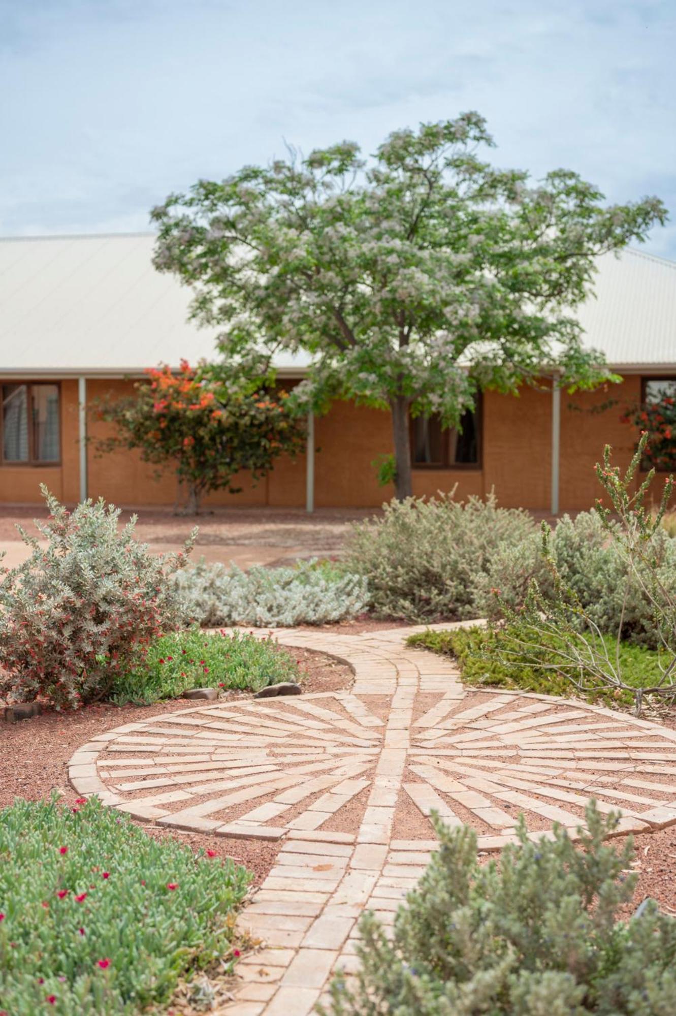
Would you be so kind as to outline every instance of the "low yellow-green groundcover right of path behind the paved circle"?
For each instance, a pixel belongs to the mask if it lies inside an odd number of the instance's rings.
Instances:
[[[450,655],[458,660],[463,683],[474,687],[513,688],[540,695],[565,695],[576,693],[569,679],[560,670],[552,668],[556,662],[553,653],[547,651],[550,636],[542,636],[542,645],[529,644],[527,632],[522,632],[518,624],[504,628],[456,628],[449,631],[426,631],[410,635],[409,645],[429,649],[442,655]],[[615,639],[604,636],[611,658],[616,652]],[[560,643],[560,640],[559,640]],[[509,656],[510,662],[505,661]],[[661,653],[643,646],[623,642],[619,647],[620,666],[628,685],[634,688],[650,687],[661,677]],[[615,692],[599,686],[586,696],[592,702],[606,705],[633,704],[631,692]]]

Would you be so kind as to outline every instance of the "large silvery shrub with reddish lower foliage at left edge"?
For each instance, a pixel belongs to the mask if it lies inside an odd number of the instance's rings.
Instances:
[[[71,513],[42,488],[50,509],[37,522],[47,547],[19,527],[32,553],[0,582],[0,694],[42,697],[62,709],[105,696],[150,639],[176,627],[183,608],[170,577],[184,552],[158,557],[118,531],[120,510],[85,501]]]

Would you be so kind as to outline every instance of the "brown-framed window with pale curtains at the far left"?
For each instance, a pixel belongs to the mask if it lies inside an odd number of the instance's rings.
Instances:
[[[60,457],[59,385],[3,384],[3,463],[42,464]]]

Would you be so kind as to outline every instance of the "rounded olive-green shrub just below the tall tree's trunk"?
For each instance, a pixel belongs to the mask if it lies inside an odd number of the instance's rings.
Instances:
[[[477,576],[488,573],[501,545],[517,546],[535,523],[526,511],[485,501],[407,498],[384,506],[382,517],[354,526],[347,566],[368,581],[381,616],[412,622],[480,616]]]

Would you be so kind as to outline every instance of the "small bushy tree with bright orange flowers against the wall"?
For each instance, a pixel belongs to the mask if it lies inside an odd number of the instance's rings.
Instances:
[[[209,491],[238,493],[234,478],[241,470],[259,480],[275,458],[302,445],[285,391],[275,397],[235,375],[223,377],[208,366],[193,370],[185,360],[179,374],[165,366],[147,374],[149,380],[137,382],[133,395],[98,404],[98,416],[114,423],[116,433],[99,440],[96,449],[137,448],[144,462],[173,465],[188,488],[187,514],[198,513]]]

